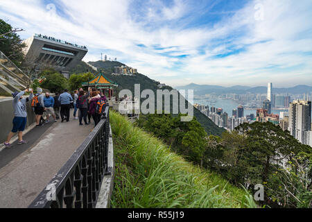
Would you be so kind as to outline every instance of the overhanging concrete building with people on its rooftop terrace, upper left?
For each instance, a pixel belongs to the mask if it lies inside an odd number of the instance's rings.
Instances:
[[[24,41],[25,61],[34,64],[37,69],[52,67],[57,71],[67,71],[75,67],[87,53],[86,46],[35,34]]]

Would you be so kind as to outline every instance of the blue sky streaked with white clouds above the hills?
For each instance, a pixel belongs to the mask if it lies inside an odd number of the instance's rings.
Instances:
[[[312,85],[312,0],[0,0],[0,18],[173,87]],[[104,57],[104,56],[103,56]]]

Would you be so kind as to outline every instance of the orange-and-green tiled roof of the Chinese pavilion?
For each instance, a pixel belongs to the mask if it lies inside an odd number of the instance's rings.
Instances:
[[[108,89],[108,98],[112,97],[113,87],[118,87],[117,83],[109,80],[104,76],[104,74],[100,73],[98,76],[89,80],[89,82],[82,83],[83,86],[94,87],[96,89],[103,89],[103,93],[105,94],[106,89]]]

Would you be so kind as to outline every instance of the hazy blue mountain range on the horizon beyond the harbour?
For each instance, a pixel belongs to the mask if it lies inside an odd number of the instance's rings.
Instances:
[[[268,92],[267,87],[259,86],[259,87],[247,87],[242,85],[235,85],[232,87],[222,87],[219,85],[197,85],[194,83],[191,83],[189,85],[176,87],[177,89],[193,89],[194,94],[196,96],[202,96],[205,94],[228,94],[228,93],[234,93],[234,94],[246,94],[248,92],[250,93],[261,93],[265,94]],[[312,87],[308,85],[297,85],[295,87],[289,87],[289,88],[275,88],[273,87],[273,93],[279,94],[279,93],[290,93],[290,94],[304,94],[312,92]]]

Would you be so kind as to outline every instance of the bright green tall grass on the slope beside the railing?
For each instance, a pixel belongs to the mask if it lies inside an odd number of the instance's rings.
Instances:
[[[243,189],[193,166],[110,112],[116,175],[112,207],[256,207]]]

